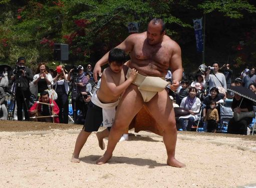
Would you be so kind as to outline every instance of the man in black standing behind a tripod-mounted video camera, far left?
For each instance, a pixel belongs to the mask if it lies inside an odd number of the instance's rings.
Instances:
[[[14,81],[12,88],[16,98],[18,121],[23,120],[22,110],[24,110],[25,120],[30,120],[28,106],[31,96],[30,82],[33,81],[33,73],[30,68],[25,67],[25,63],[25,57],[19,57],[11,76],[11,80]]]

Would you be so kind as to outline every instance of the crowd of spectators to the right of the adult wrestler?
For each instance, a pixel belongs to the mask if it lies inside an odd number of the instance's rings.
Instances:
[[[165,80],[171,83],[171,72],[166,74]],[[255,67],[246,66],[239,75],[235,76],[230,64],[220,66],[219,62],[213,62],[211,66],[200,65],[193,76],[183,72],[180,87],[175,94],[169,92],[170,97],[174,99],[174,107],[183,109],[183,115],[177,113],[179,114],[176,117],[177,130],[195,130],[198,128],[197,125],[200,125],[207,132],[222,131],[223,119],[220,112],[221,108],[226,108],[229,103],[232,114],[253,112],[253,106],[256,104],[228,91],[227,88],[230,86],[247,88],[256,95]],[[227,133],[250,134],[251,122],[252,115],[239,120],[231,116],[227,122]]]

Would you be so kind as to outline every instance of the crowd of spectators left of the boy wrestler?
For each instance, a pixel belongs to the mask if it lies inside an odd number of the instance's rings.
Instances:
[[[0,67],[0,120],[42,121],[83,124],[92,92],[97,83],[92,65],[74,66],[70,71],[64,65],[49,69],[40,62],[35,74],[26,66],[25,57],[16,67]],[[2,68],[2,69],[1,69]],[[70,112],[70,103],[72,110]],[[72,117],[71,117],[71,116]]]

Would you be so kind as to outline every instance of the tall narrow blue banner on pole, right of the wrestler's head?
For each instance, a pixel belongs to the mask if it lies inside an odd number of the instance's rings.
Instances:
[[[195,30],[196,50],[203,51],[202,18],[193,19]]]

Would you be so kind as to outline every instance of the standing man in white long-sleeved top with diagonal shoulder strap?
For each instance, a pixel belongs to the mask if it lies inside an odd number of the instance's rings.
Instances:
[[[212,70],[212,73],[210,74],[210,71]],[[225,90],[223,92],[226,92],[226,78],[224,74],[220,73],[219,71],[219,63],[214,62],[212,63],[212,67],[208,67],[208,70],[206,71],[205,81],[209,82],[209,90],[212,87],[216,87],[219,90]],[[222,91],[219,91],[222,93]],[[222,93],[224,94],[224,93]]]

